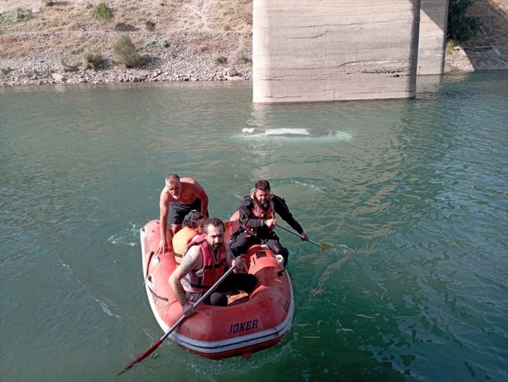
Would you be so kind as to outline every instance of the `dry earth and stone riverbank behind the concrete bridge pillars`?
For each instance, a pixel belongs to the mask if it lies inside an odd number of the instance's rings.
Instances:
[[[251,78],[252,0],[105,1],[114,12],[107,22],[91,16],[100,0],[0,0],[0,86],[58,82],[62,72],[68,82]],[[470,14],[481,27],[448,47],[446,70],[508,69],[508,0],[476,0]],[[150,64],[115,65],[120,34]],[[101,51],[106,70],[84,69],[83,51]]]

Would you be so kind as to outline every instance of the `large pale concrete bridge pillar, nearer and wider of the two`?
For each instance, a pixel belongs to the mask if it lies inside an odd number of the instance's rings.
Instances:
[[[415,97],[432,1],[253,0],[253,102]]]

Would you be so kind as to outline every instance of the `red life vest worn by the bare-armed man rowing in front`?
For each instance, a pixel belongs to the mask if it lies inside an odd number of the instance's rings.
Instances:
[[[203,267],[200,270],[192,270],[183,277],[183,289],[193,293],[205,292],[224,274],[227,256],[226,244],[222,243],[220,246],[217,259],[213,256],[205,235],[194,237],[187,246],[185,254],[192,246],[200,247],[203,254]]]

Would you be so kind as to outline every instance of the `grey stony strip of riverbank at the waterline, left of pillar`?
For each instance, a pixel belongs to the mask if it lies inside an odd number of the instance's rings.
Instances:
[[[48,38],[65,38],[51,32]],[[107,40],[111,36],[97,36],[84,33],[84,39]],[[19,38],[30,38],[30,34]],[[199,36],[198,40],[220,39],[221,46],[230,47],[222,55],[200,52],[196,43],[188,43],[185,35],[165,36],[163,43],[159,36],[132,36],[149,43],[140,54],[146,64],[140,68],[126,68],[115,64],[113,54],[102,50],[104,68],[86,69],[82,59],[54,49],[33,51],[20,58],[3,59],[1,63],[0,86],[45,85],[56,83],[82,84],[99,82],[155,82],[155,81],[223,81],[251,80],[251,46],[238,41],[250,42],[250,34],[225,32],[213,36]],[[196,37],[194,37],[196,38]],[[151,46],[150,46],[150,41]],[[247,44],[248,44],[247,43]],[[73,60],[73,61],[72,61]],[[69,61],[72,61],[69,63]]]

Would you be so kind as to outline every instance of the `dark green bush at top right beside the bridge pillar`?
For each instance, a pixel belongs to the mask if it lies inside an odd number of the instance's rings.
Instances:
[[[448,8],[448,39],[458,42],[468,40],[474,36],[478,20],[476,17],[466,16],[474,0],[450,0]]]

